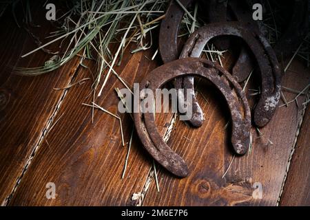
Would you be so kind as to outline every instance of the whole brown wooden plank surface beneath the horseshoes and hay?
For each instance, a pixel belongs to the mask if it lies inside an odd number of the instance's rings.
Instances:
[[[34,17],[41,28],[32,28],[44,39],[52,26],[44,15]],[[121,179],[127,147],[121,144],[118,120],[82,103],[92,102],[92,80],[70,89],[54,90],[92,78],[96,63],[79,65],[76,57],[54,72],[36,77],[17,76],[13,67],[42,65],[51,55],[39,51],[28,58],[21,54],[37,45],[12,14],[1,18],[0,34],[0,203],[3,206],[276,206],[310,205],[309,107],[306,96],[288,107],[280,107],[271,122],[252,129],[253,146],[243,157],[234,157],[229,145],[229,112],[223,98],[205,83],[198,84],[198,100],[205,122],[192,129],[174,122],[171,113],[156,115],[164,135],[172,131],[168,144],[187,162],[190,175],[178,179],[157,164],[160,192],[156,189],[152,158],[134,133],[125,178]],[[150,58],[156,45],[145,52],[126,50],[116,72],[130,85],[141,81],[161,65]],[[56,46],[52,48],[57,50]],[[226,56],[224,65],[231,65]],[[283,63],[286,65],[287,61]],[[309,69],[297,58],[282,85],[302,90],[310,83]],[[117,113],[115,87],[123,85],[110,76],[96,103]],[[249,88],[255,89],[255,87]],[[247,91],[248,98],[251,98]],[[296,94],[284,91],[287,100]],[[254,103],[253,103],[254,104]],[[253,105],[251,104],[251,105]],[[282,102],[281,102],[282,104]],[[125,142],[133,122],[120,114]],[[272,142],[272,144],[271,144]],[[229,164],[231,162],[231,166]],[[225,177],[225,171],[229,167]],[[222,178],[223,177],[223,178]],[[56,185],[56,199],[47,199],[46,184]],[[262,184],[262,199],[254,198],[254,183]],[[134,200],[133,195],[136,195]]]

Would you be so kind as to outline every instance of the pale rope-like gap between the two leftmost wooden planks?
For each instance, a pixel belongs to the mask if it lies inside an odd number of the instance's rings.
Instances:
[[[70,77],[70,79],[68,80],[68,83],[65,87],[68,87],[69,85],[71,85],[73,80],[77,77],[79,69],[81,67],[80,64],[81,64],[81,62],[78,62],[75,65],[72,77]],[[64,89],[62,91],[61,97],[59,98],[58,102],[56,103],[56,105],[54,107],[54,111],[52,112],[52,115],[50,116],[48,121],[45,123],[45,126],[43,126],[43,130],[41,131],[41,135],[38,138],[37,144],[34,144],[34,147],[32,148],[32,151],[31,151],[27,161],[25,162],[25,166],[23,166],[23,169],[21,170],[21,175],[19,175],[19,177],[17,177],[17,180],[16,180],[16,183],[14,184],[14,187],[12,188],[10,194],[6,197],[6,199],[4,199],[1,206],[8,206],[8,204],[10,203],[10,200],[14,196],[14,192],[16,192],[17,188],[19,187],[19,184],[21,183],[21,180],[23,179],[25,173],[27,172],[27,170],[28,170],[28,168],[32,162],[32,159],[34,159],[37,151],[39,150],[39,148],[41,147],[41,144],[43,143],[43,140],[45,140],[45,137],[48,135],[48,132],[50,131],[50,129],[52,129],[52,125],[54,123],[56,115],[58,114],[58,112],[61,108],[61,104],[63,103],[63,100],[65,99],[65,96],[68,93],[68,89]]]

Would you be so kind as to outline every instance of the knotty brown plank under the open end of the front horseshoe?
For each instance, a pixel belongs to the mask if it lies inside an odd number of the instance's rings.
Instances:
[[[282,85],[302,90],[309,83],[309,69],[294,61],[285,74]],[[298,129],[300,109],[291,103],[281,107],[258,137],[252,129],[253,145],[251,152],[244,157],[234,157],[225,175],[225,170],[233,157],[229,144],[229,131],[225,124],[229,111],[219,100],[219,95],[211,87],[198,87],[209,103],[198,96],[205,113],[205,123],[199,129],[192,129],[183,122],[176,123],[169,146],[182,156],[190,170],[188,177],[177,179],[165,170],[158,172],[161,192],[152,184],[145,195],[145,206],[276,206],[289,155]],[[251,88],[253,89],[253,88]],[[284,93],[287,100],[296,94]],[[298,98],[302,103],[304,96]],[[186,138],[185,138],[186,137]],[[273,142],[271,144],[269,142]],[[262,186],[262,199],[254,184]]]

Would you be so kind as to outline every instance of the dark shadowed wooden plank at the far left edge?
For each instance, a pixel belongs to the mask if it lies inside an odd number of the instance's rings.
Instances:
[[[43,39],[52,27],[40,11],[41,8],[34,13],[33,19],[41,28],[31,30]],[[10,10],[0,23],[0,203],[5,205],[63,95],[53,88],[70,83],[78,60],[70,61],[68,66],[52,74],[35,78],[17,76],[13,67],[42,65],[52,55],[40,51],[20,59],[21,54],[37,47],[36,43],[28,32],[17,27]]]

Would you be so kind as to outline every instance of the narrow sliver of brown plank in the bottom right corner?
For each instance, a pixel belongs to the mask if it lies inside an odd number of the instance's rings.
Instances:
[[[304,120],[296,148],[289,166],[289,173],[280,199],[280,206],[310,206],[310,106]]]

